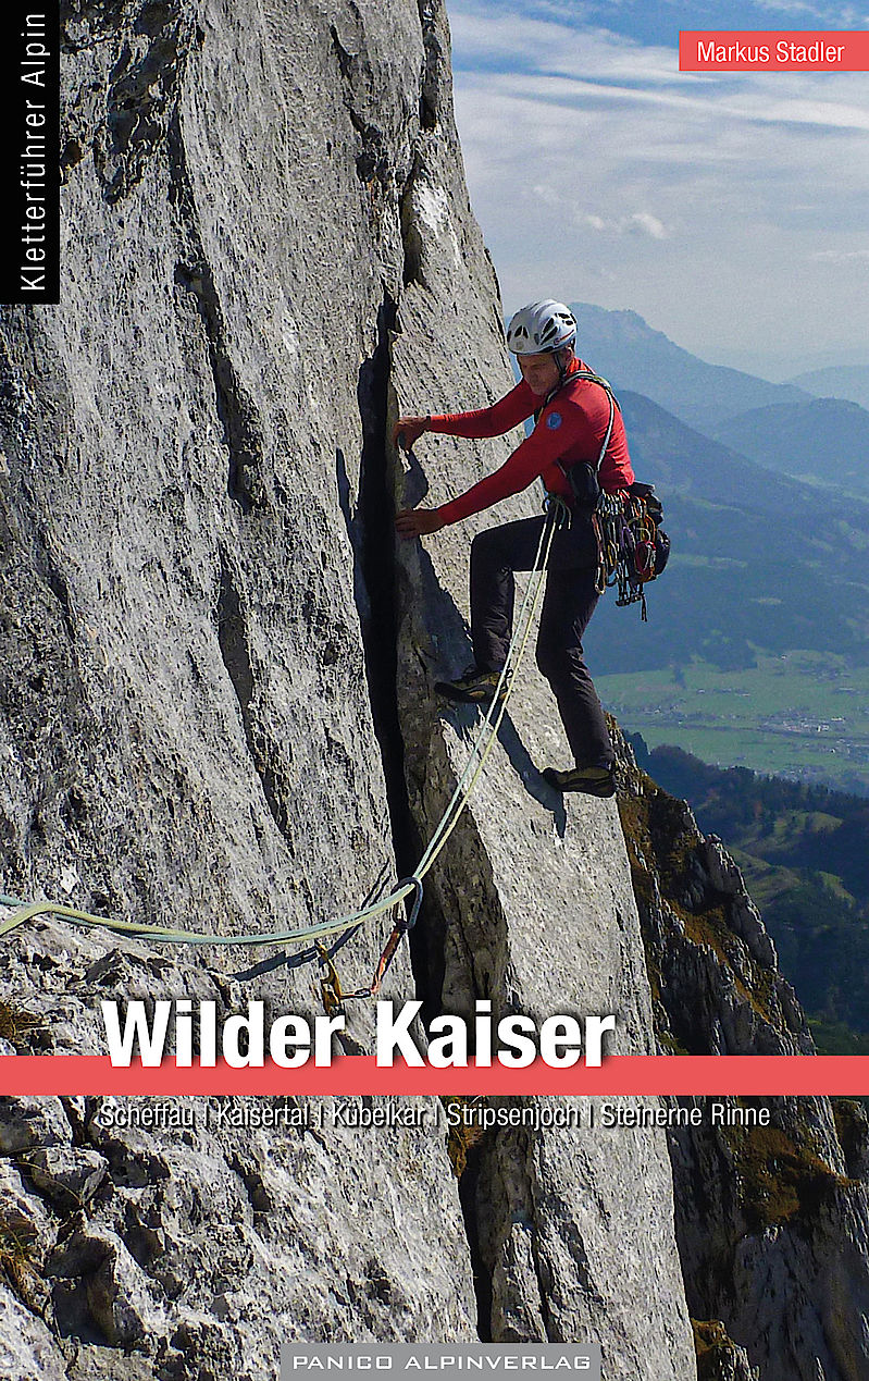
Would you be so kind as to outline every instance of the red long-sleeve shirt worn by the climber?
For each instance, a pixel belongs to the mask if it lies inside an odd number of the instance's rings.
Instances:
[[[575,370],[588,369],[582,360],[574,362]],[[517,427],[541,406],[524,380],[510,389],[491,407],[479,407],[470,413],[443,413],[432,417],[429,431],[444,432],[448,436],[501,436]],[[532,479],[542,476],[550,493],[571,497],[570,483],[560,465],[570,468],[575,461],[597,463],[600,447],[610,421],[610,399],[600,384],[578,378],[566,384],[543,407],[530,436],[516,447],[513,454],[479,483],[437,510],[444,525],[459,522],[472,514],[497,504],[527,489]],[[559,464],[560,463],[560,464]],[[612,434],[607,453],[600,463],[600,487],[615,494],[633,483],[633,468],[628,454],[628,438],[622,414],[615,409]]]

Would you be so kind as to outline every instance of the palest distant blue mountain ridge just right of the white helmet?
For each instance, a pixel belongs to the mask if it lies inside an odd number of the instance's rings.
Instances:
[[[617,388],[644,394],[699,431],[728,417],[774,403],[806,403],[810,394],[793,384],[709,365],[654,330],[637,312],[607,311],[571,302],[579,327],[578,352]]]

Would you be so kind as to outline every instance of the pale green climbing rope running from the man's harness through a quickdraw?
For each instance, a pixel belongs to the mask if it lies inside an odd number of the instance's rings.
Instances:
[[[552,541],[555,533],[563,526],[563,523],[570,521],[570,511],[567,505],[557,499],[557,496],[549,496],[546,510],[546,522],[541,529],[541,539],[534,558],[534,566],[531,568],[531,577],[516,619],[516,627],[508,648],[506,661],[498,678],[492,702],[472,743],[465,769],[457,782],[455,790],[437,823],[437,827],[434,829],[425,853],[417,865],[415,871],[410,877],[397,882],[386,896],[368,903],[357,911],[349,911],[346,916],[339,916],[334,920],[321,921],[316,925],[308,925],[292,931],[261,931],[243,935],[204,935],[199,931],[171,929],[164,925],[145,925],[138,921],[123,921],[105,916],[94,916],[90,911],[81,911],[72,906],[61,906],[57,902],[28,903],[21,898],[0,894],[0,906],[15,907],[11,916],[7,916],[4,921],[0,921],[0,936],[10,935],[12,931],[25,925],[26,921],[36,916],[59,916],[63,920],[76,921],[79,925],[90,928],[101,927],[116,934],[131,935],[138,939],[160,940],[167,945],[215,945],[240,949],[252,947],[255,945],[295,945],[309,940],[319,942],[330,935],[338,935],[350,927],[359,925],[375,916],[381,916],[383,911],[392,910],[393,906],[397,906],[412,892],[414,903],[410,914],[401,917],[393,927],[368,987],[359,989],[354,993],[342,993],[341,982],[331,956],[323,945],[316,946],[320,963],[326,971],[320,979],[324,1004],[332,1003],[334,1008],[338,1010],[348,997],[374,997],[379,992],[383,975],[386,974],[403,936],[417,923],[417,917],[419,916],[419,909],[422,906],[422,880],[433,867],[434,862],[443,852],[447,840],[452,834],[459,815],[468,804],[486,760],[491,753],[498,729],[501,728],[501,721],[513,689],[515,674],[524,655],[534,616],[543,591]],[[503,695],[501,693],[502,688]]]

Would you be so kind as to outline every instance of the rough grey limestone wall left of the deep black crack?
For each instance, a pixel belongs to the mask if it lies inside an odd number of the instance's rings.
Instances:
[[[65,7],[62,301],[0,327],[4,894],[257,934],[394,881],[388,327],[446,87],[443,17],[410,0]],[[348,989],[389,925],[342,947]],[[273,956],[34,923],[0,956],[14,1048],[105,1051],[101,998],[321,1011],[314,956]],[[383,996],[414,996],[406,949]],[[371,1032],[359,1003],[348,1048]],[[283,1338],[476,1337],[436,1102],[371,1132],[319,1101],[283,1132],[188,1108],[0,1105],[4,1377],[272,1378]]]

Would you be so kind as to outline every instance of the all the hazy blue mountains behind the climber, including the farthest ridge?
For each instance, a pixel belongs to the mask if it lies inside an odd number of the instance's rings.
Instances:
[[[742,667],[757,650],[793,648],[865,661],[869,413],[708,365],[635,312],[571,305],[581,354],[618,392],[637,478],[657,485],[673,540],[648,626],[628,637],[639,615],[601,601],[596,670],[692,656]],[[705,416],[705,431],[687,416]]]

